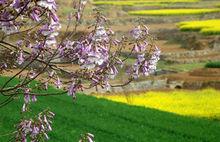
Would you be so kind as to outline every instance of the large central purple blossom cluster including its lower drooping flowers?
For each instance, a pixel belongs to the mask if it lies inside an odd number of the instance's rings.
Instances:
[[[114,79],[119,73],[117,66],[123,66],[123,62],[119,57],[114,56],[115,52],[110,51],[111,46],[119,46],[120,41],[112,39],[114,32],[105,28],[103,21],[105,19],[100,20],[94,30],[78,41],[65,41],[59,48],[59,52],[60,57],[78,63],[83,70],[77,72],[78,79],[83,78],[91,82],[90,87],[100,85],[108,89],[110,88],[109,80]],[[69,95],[75,96],[78,88],[83,89],[81,85],[76,84],[73,81],[69,86]]]

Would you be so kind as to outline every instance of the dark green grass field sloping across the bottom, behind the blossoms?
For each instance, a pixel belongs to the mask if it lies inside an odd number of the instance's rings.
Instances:
[[[0,84],[5,79],[0,78]],[[53,88],[49,92],[57,91]],[[0,96],[2,101],[4,98]],[[0,108],[0,141],[9,139],[14,124],[21,118],[19,98]],[[218,142],[218,120],[180,116],[156,109],[129,106],[92,96],[50,96],[38,98],[31,106],[38,113],[44,108],[56,113],[53,129],[49,133],[52,142],[75,142],[80,134],[90,132],[96,142]]]

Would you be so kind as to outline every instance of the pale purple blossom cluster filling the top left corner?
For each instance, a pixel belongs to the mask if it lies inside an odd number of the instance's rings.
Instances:
[[[7,1],[1,1],[1,5],[7,5]],[[57,6],[55,0],[14,0],[8,8],[1,10],[0,27],[7,34],[19,32],[20,27],[29,17],[34,22],[40,22],[41,17],[46,16],[47,22],[41,26],[39,33],[46,38],[46,46],[56,44],[55,37],[60,29],[59,18],[56,14]],[[14,12],[11,12],[14,11]]]

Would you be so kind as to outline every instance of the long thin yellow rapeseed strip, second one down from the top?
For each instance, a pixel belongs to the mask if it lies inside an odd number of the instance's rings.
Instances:
[[[158,10],[136,10],[129,11],[130,15],[150,15],[150,16],[174,16],[174,15],[195,15],[205,13],[220,12],[220,9],[158,9]]]

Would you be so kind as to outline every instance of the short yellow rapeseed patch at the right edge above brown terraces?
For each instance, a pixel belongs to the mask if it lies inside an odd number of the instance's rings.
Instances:
[[[202,34],[220,34],[220,19],[180,22],[177,25],[182,31],[199,31]]]

